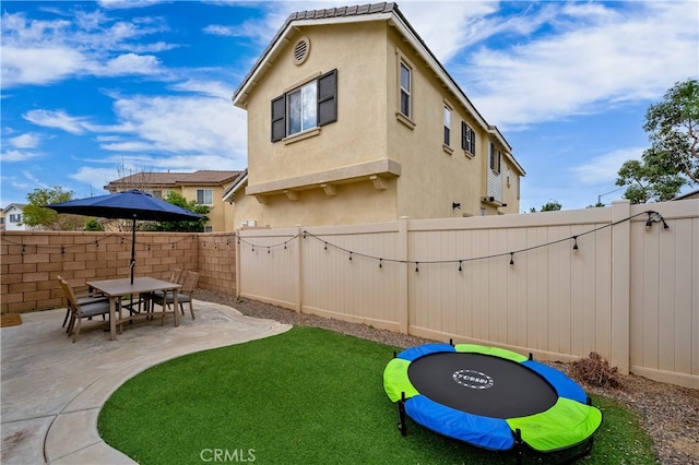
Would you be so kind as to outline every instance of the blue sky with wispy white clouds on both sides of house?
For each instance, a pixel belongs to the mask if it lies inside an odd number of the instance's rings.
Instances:
[[[0,206],[141,170],[244,169],[242,76],[289,13],[348,4],[3,1]],[[512,146],[522,212],[619,199],[648,106],[699,75],[696,1],[399,7]]]

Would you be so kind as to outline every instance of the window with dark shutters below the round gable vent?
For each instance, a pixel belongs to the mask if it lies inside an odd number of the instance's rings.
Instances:
[[[272,142],[337,120],[337,70],[272,100]]]

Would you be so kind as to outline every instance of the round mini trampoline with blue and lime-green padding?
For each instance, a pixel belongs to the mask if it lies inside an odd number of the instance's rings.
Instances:
[[[398,354],[383,371],[396,404],[418,425],[472,445],[554,452],[588,442],[602,422],[570,378],[520,354],[474,344],[426,344]]]

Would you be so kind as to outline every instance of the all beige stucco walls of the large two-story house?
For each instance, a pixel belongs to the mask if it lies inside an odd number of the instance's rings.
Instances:
[[[300,37],[310,41],[310,52],[296,65],[292,50]],[[487,129],[394,27],[382,21],[306,26],[283,44],[246,97],[248,195],[234,198],[234,228],[248,220],[286,227],[481,214]],[[413,67],[414,117],[407,124],[396,117],[400,57]],[[271,102],[333,69],[337,121],[272,143]],[[442,147],[445,104],[453,110],[451,151]],[[461,148],[462,120],[476,131],[475,156]],[[379,175],[376,184],[362,176],[333,183],[330,194],[320,188],[323,181],[318,180],[330,171],[380,160],[395,169]],[[260,193],[262,202],[250,196]],[[488,214],[518,212],[519,202],[509,199],[507,207],[493,207]],[[461,210],[452,208],[453,202],[461,203]]]

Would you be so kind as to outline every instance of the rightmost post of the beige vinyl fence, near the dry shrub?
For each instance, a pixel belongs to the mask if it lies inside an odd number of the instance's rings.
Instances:
[[[612,367],[629,373],[631,353],[630,296],[631,296],[631,203],[628,200],[612,202]]]

